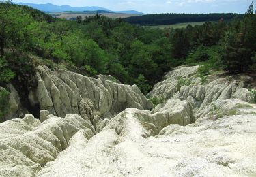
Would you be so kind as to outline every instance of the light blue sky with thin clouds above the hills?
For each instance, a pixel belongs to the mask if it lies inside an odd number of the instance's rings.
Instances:
[[[252,0],[18,0],[23,3],[53,3],[74,7],[100,6],[111,10],[138,10],[146,14],[173,13],[244,13]],[[256,7],[256,0],[255,2]]]

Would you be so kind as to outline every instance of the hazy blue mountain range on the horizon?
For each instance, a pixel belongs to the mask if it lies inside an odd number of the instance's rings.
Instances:
[[[138,12],[135,10],[128,10],[128,11],[119,11],[115,12],[103,7],[71,7],[70,5],[53,5],[52,3],[46,4],[35,4],[35,3],[16,3],[18,5],[27,5],[29,7],[33,7],[34,9],[41,10],[43,12],[97,12],[97,11],[104,11],[104,13],[123,13],[123,14],[143,14],[142,12]],[[103,13],[103,12],[100,12]]]

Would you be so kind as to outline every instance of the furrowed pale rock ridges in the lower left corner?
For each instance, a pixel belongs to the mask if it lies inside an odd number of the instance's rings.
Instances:
[[[66,118],[50,115],[40,123],[33,115],[0,124],[0,176],[35,176],[48,161],[68,147],[72,136],[84,130],[87,139],[95,131],[81,116]]]

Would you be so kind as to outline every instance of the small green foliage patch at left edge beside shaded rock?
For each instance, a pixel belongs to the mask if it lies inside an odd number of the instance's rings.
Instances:
[[[10,93],[4,89],[0,89],[0,123],[2,123],[3,117],[8,112],[8,100]]]

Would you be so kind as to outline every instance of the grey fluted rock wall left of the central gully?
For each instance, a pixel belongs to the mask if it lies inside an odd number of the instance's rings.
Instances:
[[[65,116],[79,114],[95,127],[126,108],[149,110],[153,105],[139,88],[111,81],[110,76],[89,78],[70,71],[38,67],[38,102],[42,110]],[[113,79],[113,78],[112,78]]]

